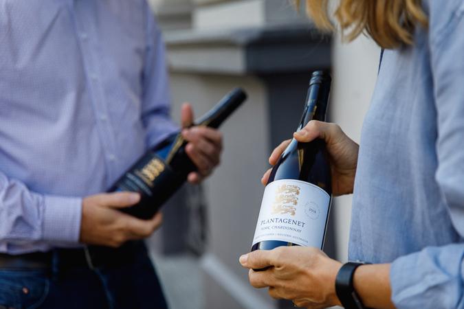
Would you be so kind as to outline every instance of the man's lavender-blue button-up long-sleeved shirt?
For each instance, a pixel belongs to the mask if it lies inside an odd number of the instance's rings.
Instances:
[[[176,126],[144,0],[0,0],[0,252],[78,244],[104,192]]]

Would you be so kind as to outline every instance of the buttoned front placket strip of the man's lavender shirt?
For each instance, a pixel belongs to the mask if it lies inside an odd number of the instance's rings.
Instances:
[[[114,179],[116,176],[114,171],[117,170],[115,165],[118,164],[115,133],[109,121],[108,102],[104,94],[104,75],[102,74],[104,68],[102,68],[102,62],[98,61],[104,55],[100,52],[98,34],[95,22],[91,18],[93,12],[90,11],[89,2],[91,1],[74,0],[74,19],[93,115],[104,149],[107,176],[108,179]]]

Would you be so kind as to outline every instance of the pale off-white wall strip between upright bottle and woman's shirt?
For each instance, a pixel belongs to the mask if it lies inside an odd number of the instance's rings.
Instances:
[[[379,56],[379,47],[366,36],[349,44],[343,44],[340,37],[334,42],[331,122],[339,124],[357,143],[377,80]],[[351,197],[335,198],[332,211],[337,225],[338,258],[342,261],[346,261],[348,253]]]

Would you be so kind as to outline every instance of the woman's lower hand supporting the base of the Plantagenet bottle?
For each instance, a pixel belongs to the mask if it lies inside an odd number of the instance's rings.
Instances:
[[[319,249],[278,247],[257,250],[240,257],[250,268],[250,283],[255,288],[269,287],[275,299],[289,299],[298,307],[327,308],[340,306],[335,294],[335,277],[342,266]],[[268,267],[266,271],[253,271]]]

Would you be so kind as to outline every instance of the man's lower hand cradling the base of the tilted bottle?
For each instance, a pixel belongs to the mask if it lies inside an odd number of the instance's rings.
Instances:
[[[139,201],[140,194],[132,192],[97,194],[84,198],[80,242],[120,247],[128,240],[150,236],[162,223],[161,213],[157,213],[151,220],[140,220],[118,210]]]

